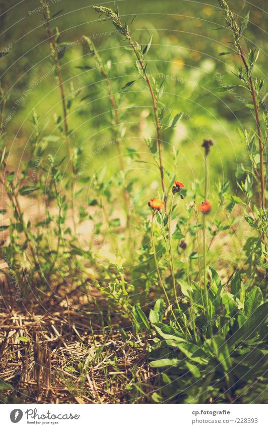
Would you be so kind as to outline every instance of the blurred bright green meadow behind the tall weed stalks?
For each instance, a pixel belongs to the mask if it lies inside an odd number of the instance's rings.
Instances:
[[[115,145],[109,145],[112,140],[110,104],[105,83],[88,50],[82,46],[81,36],[91,36],[104,61],[111,62],[109,76],[115,93],[126,82],[135,79],[135,59],[125,49],[123,38],[111,34],[114,31],[111,23],[99,19],[91,1],[50,0],[48,3],[51,15],[59,12],[51,24],[60,31],[60,42],[72,43],[60,62],[68,97],[72,91],[80,91],[70,111],[73,147],[79,148],[82,154],[80,164],[87,157],[92,160],[86,167],[90,174],[108,163],[108,176],[111,177],[116,172],[117,153]],[[231,34],[225,28],[218,2],[124,0],[103,5],[111,8],[118,6],[121,16],[128,23],[138,12],[131,25],[132,35],[146,44],[153,34],[147,56],[148,72],[153,73],[158,82],[165,80],[161,102],[173,114],[184,113],[176,129],[167,130],[162,136],[166,168],[179,170],[177,175],[181,180],[184,176],[189,181],[191,178],[198,180],[203,169],[200,146],[203,138],[213,138],[217,146],[212,151],[210,181],[215,183],[228,178],[235,187],[238,164],[247,162],[237,127],[249,127],[254,119],[252,112],[239,101],[238,95],[245,102],[250,99],[243,88],[237,88],[237,96],[229,92],[213,92],[214,88],[224,83],[237,83],[232,72],[234,64],[239,65],[239,58],[234,55],[219,56],[227,51]],[[267,2],[262,0],[253,5],[232,1],[230,5],[238,16],[244,17],[250,10],[246,33],[248,41],[245,41],[250,46],[260,48],[255,72],[265,77]],[[42,12],[37,10],[39,6],[39,2],[34,0],[2,1],[0,6],[1,49],[8,52],[0,61],[1,83],[4,91],[9,93],[6,115],[10,114],[11,118],[5,131],[11,147],[10,161],[14,164],[18,159],[29,156],[33,109],[39,116],[41,128],[45,127],[44,134],[58,135],[54,116],[61,114],[60,97],[51,72],[49,43]],[[263,92],[266,91],[267,87],[264,86]],[[126,148],[131,148],[137,151],[136,161],[138,156],[149,159],[143,136],[152,134],[154,127],[150,94],[143,82],[136,82],[129,91],[118,96],[118,104],[126,129],[124,152],[127,152]],[[102,145],[105,150],[96,152]],[[172,158],[174,149],[180,151],[177,166]],[[47,153],[62,155],[64,150],[60,139],[49,139]],[[128,160],[129,165],[132,160]],[[136,174],[137,168],[139,175],[146,173],[139,171],[139,163],[131,168],[136,169]],[[157,178],[156,170],[147,178],[151,180],[152,177]]]

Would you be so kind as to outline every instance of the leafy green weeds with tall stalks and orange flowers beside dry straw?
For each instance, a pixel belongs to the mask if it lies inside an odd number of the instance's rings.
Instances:
[[[81,91],[81,102],[91,94],[73,85],[69,89],[64,81],[62,58],[68,42],[60,41],[59,29],[53,28],[56,14],[50,14],[45,0],[41,0],[44,28],[61,112],[55,114],[53,134],[40,124],[38,112],[33,112],[29,157],[17,171],[10,171],[5,146],[8,99],[1,88],[0,181],[8,199],[1,213],[9,215],[0,227],[6,234],[1,257],[13,306],[22,311],[30,308],[32,300],[58,298],[59,291],[60,299],[68,303],[68,295],[79,291],[85,298],[79,304],[81,311],[91,314],[89,325],[100,317],[103,328],[115,330],[120,327],[120,315],[124,338],[131,331],[139,347],[144,342],[147,361],[157,376],[152,390],[146,390],[148,402],[265,401],[268,117],[261,112],[264,80],[254,77],[258,52],[244,46],[249,15],[239,23],[225,1],[219,0],[219,4],[233,36],[232,47],[221,55],[238,55],[241,66],[236,72],[239,85],[215,91],[239,86],[248,94],[247,107],[254,112],[252,129],[239,128],[248,154],[237,177],[239,196],[229,181],[209,182],[209,161],[215,150],[212,138],[198,143],[202,173],[195,181],[178,167],[179,150],[171,151],[166,141],[184,115],[162,101],[165,79],[155,78],[147,61],[153,38],[146,44],[135,40],[131,28],[136,17],[128,25],[118,8],[93,7],[114,25],[123,43],[119,49],[127,52],[138,78],[117,88],[112,62],[85,35],[81,40],[86,59],[79,66],[85,80],[94,70],[102,94],[100,104],[102,99],[107,102],[107,129],[118,159],[112,178],[107,180],[105,168],[93,168],[90,175],[86,153],[81,146],[76,148],[77,131],[70,125],[72,109],[79,103]],[[149,106],[147,120],[154,125],[150,137],[143,141],[143,136],[138,137],[149,150],[144,158],[145,150],[127,145],[133,130],[122,108],[136,87],[142,88]],[[63,157],[50,148],[59,142],[65,145]],[[144,182],[142,186],[143,180],[133,176],[132,165],[154,169],[157,185],[147,188]],[[30,207],[28,212],[25,204]],[[90,225],[91,234],[82,244],[79,230],[84,225]],[[241,249],[246,228],[250,229]],[[224,257],[226,237],[230,260]],[[92,291],[97,291],[97,298]],[[98,302],[100,297],[105,310]],[[74,362],[71,374],[80,371],[86,383],[89,361]],[[70,382],[65,379],[65,383]],[[146,381],[139,386],[143,392]]]

